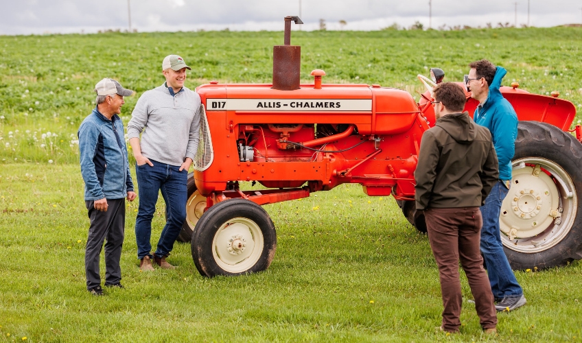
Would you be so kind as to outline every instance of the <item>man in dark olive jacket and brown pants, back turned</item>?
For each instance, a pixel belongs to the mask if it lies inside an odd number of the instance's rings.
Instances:
[[[439,266],[443,321],[441,331],[461,326],[461,280],[458,261],[475,298],[485,333],[496,333],[497,316],[491,285],[480,255],[483,204],[498,180],[498,161],[491,133],[478,126],[465,107],[465,92],[447,82],[434,89],[436,125],[424,132],[415,171],[417,213],[423,211],[428,240]]]

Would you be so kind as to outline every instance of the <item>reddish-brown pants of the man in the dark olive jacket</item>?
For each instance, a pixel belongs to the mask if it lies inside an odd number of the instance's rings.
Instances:
[[[496,327],[497,312],[493,305],[491,285],[479,252],[480,230],[483,223],[478,207],[459,209],[428,209],[424,211],[430,248],[439,266],[443,295],[443,329],[458,331],[461,326],[461,279],[458,261],[465,270],[469,287],[475,298],[475,308],[481,327]]]

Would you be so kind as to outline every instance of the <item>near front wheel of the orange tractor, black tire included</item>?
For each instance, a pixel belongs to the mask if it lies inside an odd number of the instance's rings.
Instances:
[[[275,256],[277,234],[268,213],[244,199],[224,200],[200,217],[191,241],[202,276],[234,276],[266,270]]]

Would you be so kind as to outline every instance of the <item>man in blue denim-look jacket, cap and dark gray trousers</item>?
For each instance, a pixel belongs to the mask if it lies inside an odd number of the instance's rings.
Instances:
[[[87,290],[102,295],[99,257],[105,244],[105,285],[121,285],[121,246],[124,243],[125,198],[135,199],[129,172],[124,123],[119,113],[124,96],[133,94],[119,82],[105,78],[95,85],[97,106],[79,128],[81,174],[89,211],[89,237],[85,251]]]

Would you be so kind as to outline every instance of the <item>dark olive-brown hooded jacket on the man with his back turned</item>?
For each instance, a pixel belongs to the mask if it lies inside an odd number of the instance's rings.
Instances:
[[[491,133],[467,112],[424,132],[415,170],[417,210],[482,206],[499,177]]]

